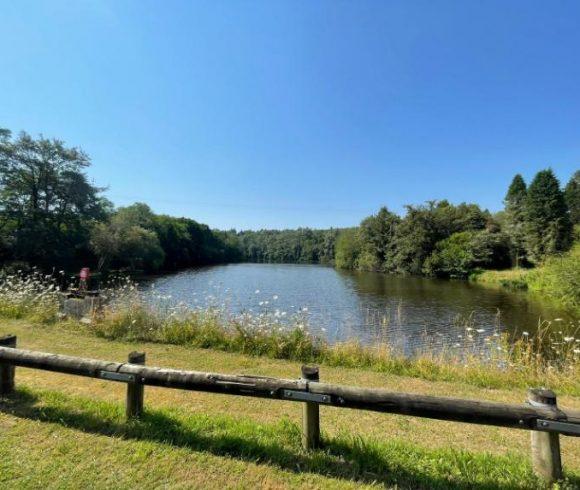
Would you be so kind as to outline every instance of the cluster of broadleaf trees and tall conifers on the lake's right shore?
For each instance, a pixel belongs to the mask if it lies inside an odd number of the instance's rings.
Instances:
[[[407,206],[404,217],[387,208],[343,230],[336,243],[339,268],[465,277],[477,269],[537,265],[572,244],[580,223],[580,172],[562,190],[552,170],[527,187],[516,175],[504,211],[476,204],[432,201]]]

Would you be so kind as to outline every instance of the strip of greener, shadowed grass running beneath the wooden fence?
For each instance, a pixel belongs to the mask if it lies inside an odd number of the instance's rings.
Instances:
[[[393,447],[385,446],[388,447],[385,450],[385,447],[365,443],[362,439],[339,437],[325,440],[322,450],[306,453],[299,445],[299,429],[291,423],[268,426],[218,416],[182,417],[162,411],[149,411],[140,420],[126,423],[122,421],[118,406],[26,389],[0,399],[0,411],[87,433],[153,441],[293,472],[310,472],[386,487],[484,490],[537,485],[537,481],[529,476],[526,481],[516,478],[498,482],[498,473],[488,473],[485,468],[471,468],[464,475],[462,464],[469,466],[469,457],[467,462],[460,457],[442,464],[441,459],[445,459],[446,453],[439,452],[434,456],[428,450],[408,445],[397,447],[394,444]],[[449,451],[451,459],[457,454],[461,453]],[[502,462],[498,458],[497,461],[488,460],[486,464],[491,468],[492,465],[501,466]],[[442,466],[441,474],[436,475],[434,468],[439,465]],[[575,484],[580,484],[580,478],[574,478],[570,483],[574,488]]]

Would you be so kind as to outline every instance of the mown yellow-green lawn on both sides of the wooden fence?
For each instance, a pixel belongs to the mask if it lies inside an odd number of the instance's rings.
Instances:
[[[108,341],[57,326],[2,322],[22,348],[149,365],[297,377],[300,364],[191,347]],[[323,367],[326,381],[521,402],[525,390],[427,382]],[[18,392],[0,405],[5,488],[542,488],[527,431],[321,408],[324,448],[300,448],[299,404],[146,389],[147,414],[124,422],[124,385],[17,369]],[[580,407],[578,397],[559,398]],[[562,438],[567,481],[580,485],[578,440]]]

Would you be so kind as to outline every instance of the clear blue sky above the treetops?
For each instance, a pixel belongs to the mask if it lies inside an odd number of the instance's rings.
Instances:
[[[580,168],[580,2],[0,0],[0,126],[117,205],[354,225]]]

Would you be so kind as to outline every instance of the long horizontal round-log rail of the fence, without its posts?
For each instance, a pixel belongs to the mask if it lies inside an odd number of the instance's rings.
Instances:
[[[538,430],[537,419],[567,420],[566,413],[561,410],[548,410],[524,404],[394,393],[381,389],[318,383],[305,379],[290,380],[182,371],[9,347],[0,347],[0,363],[149,386],[288,401],[306,400],[341,408],[517,429]]]

